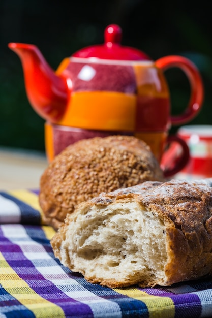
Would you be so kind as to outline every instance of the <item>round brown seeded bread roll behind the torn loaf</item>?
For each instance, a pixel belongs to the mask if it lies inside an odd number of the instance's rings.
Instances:
[[[159,164],[143,141],[131,136],[81,140],[57,155],[40,180],[40,206],[55,229],[75,206],[101,192],[163,180]]]

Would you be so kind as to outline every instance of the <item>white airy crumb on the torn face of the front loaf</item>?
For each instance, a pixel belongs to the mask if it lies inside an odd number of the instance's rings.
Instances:
[[[137,202],[81,210],[60,248],[62,263],[86,277],[117,282],[164,279],[163,221]]]

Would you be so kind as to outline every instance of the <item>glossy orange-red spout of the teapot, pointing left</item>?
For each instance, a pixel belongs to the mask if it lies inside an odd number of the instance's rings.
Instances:
[[[70,96],[65,76],[54,73],[35,45],[9,43],[8,46],[21,59],[32,107],[44,119],[57,123],[63,117]]]

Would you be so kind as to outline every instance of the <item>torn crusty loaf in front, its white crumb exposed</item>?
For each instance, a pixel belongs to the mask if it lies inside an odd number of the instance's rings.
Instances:
[[[83,202],[52,238],[55,256],[111,288],[211,274],[211,184],[147,181]]]

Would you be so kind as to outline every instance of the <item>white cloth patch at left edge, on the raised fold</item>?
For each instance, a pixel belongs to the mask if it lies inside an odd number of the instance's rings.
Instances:
[[[19,223],[21,211],[18,205],[0,195],[0,224]]]

